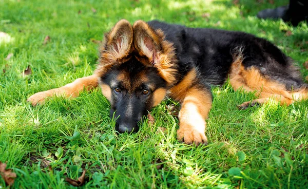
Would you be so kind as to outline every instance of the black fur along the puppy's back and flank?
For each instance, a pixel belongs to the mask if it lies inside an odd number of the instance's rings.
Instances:
[[[292,60],[271,42],[252,34],[208,28],[187,28],[181,25],[150,21],[153,29],[161,29],[166,40],[174,43],[181,77],[198,67],[203,82],[223,84],[233,62],[233,54],[242,50],[245,68],[254,66],[267,77],[285,85],[287,90],[305,86]]]

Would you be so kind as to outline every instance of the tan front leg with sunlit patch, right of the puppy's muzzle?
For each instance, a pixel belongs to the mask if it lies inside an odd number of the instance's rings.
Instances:
[[[184,140],[186,144],[207,144],[207,138],[204,134],[205,119],[208,117],[212,103],[209,89],[189,88],[180,102],[182,107],[179,112],[178,140]]]

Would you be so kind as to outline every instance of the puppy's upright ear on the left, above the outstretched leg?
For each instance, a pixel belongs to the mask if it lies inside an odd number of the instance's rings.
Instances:
[[[132,26],[126,20],[121,20],[105,34],[104,42],[100,48],[101,63],[121,61],[129,55],[132,49]]]

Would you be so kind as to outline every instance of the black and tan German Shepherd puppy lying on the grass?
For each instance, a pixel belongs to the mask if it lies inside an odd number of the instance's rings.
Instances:
[[[94,74],[63,87],[33,94],[32,105],[47,97],[77,97],[84,88],[100,86],[110,101],[110,116],[120,133],[138,131],[138,122],[166,96],[181,103],[178,139],[207,143],[205,120],[211,108],[210,85],[228,78],[234,90],[256,91],[258,99],[244,109],[272,98],[290,105],[308,98],[308,85],[272,43],[251,34],[187,28],[159,21],[121,20],[105,34]]]

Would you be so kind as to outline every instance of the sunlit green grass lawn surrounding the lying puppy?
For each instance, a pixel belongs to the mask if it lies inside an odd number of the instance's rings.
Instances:
[[[88,3],[87,3],[88,2]],[[262,21],[268,1],[3,1],[0,0],[0,161],[17,174],[15,188],[73,187],[86,169],[85,188],[307,188],[308,101],[273,102],[238,110],[254,98],[228,83],[213,87],[209,145],[176,140],[178,120],[167,99],[153,108],[156,122],[138,134],[116,135],[100,89],[75,99],[52,98],[32,107],[33,93],[92,74],[98,45],[118,20],[159,19],[190,27],[256,34],[275,43],[301,68],[308,60],[308,27]],[[96,12],[91,9],[95,9]],[[209,13],[209,17],[202,16]],[[285,31],[292,31],[286,36]],[[43,45],[45,36],[50,42]],[[12,58],[6,60],[9,53]],[[22,76],[30,65],[32,74]],[[2,71],[5,70],[5,73]],[[166,128],[165,133],[158,129]],[[34,157],[50,161],[35,161]],[[5,182],[0,178],[0,188]]]

